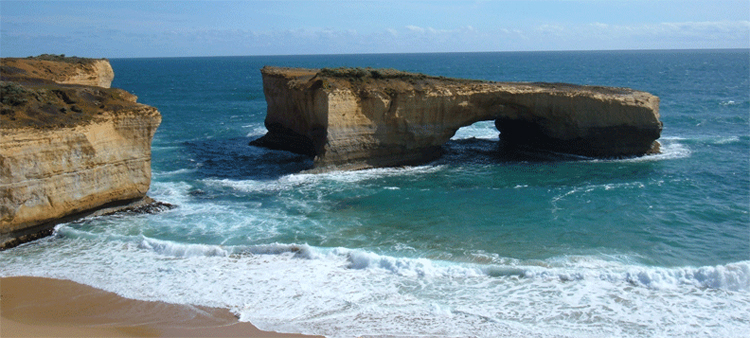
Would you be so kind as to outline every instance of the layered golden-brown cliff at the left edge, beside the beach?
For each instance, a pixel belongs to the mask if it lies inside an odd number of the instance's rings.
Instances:
[[[0,70],[0,248],[60,221],[151,202],[161,115],[108,88],[107,60],[2,59]]]

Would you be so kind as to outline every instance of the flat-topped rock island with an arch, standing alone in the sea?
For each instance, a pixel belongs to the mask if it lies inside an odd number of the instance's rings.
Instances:
[[[658,152],[659,98],[628,88],[499,83],[387,69],[264,67],[268,133],[252,145],[315,168],[424,163],[455,132],[494,120],[504,142],[594,157]]]

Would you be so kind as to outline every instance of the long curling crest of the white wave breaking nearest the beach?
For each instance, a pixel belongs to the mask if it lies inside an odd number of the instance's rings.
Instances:
[[[63,228],[68,236],[74,235],[85,239],[95,237],[95,235],[69,227]],[[528,263],[506,260],[512,264],[498,265],[393,257],[346,248],[315,248],[306,244],[220,246],[181,244],[144,236],[108,236],[108,240],[137,243],[139,249],[175,258],[290,254],[295,258],[307,260],[345,262],[346,264],[342,267],[347,269],[382,271],[408,278],[514,276],[544,281],[600,280],[653,289],[673,289],[687,285],[729,291],[750,290],[750,261],[719,266],[662,268],[624,264],[619,260],[605,260],[589,256],[564,256]]]

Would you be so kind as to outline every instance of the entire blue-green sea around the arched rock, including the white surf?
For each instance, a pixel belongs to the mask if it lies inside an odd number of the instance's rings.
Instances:
[[[750,51],[113,59],[157,107],[149,195],[0,252],[3,276],[222,307],[328,337],[746,337]],[[265,133],[260,68],[386,67],[631,87],[661,98],[660,155],[508,154],[492,121],[421,166],[306,174]]]

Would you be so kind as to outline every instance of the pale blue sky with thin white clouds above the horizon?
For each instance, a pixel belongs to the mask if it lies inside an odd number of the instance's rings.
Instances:
[[[0,56],[750,48],[750,0],[0,1]]]

